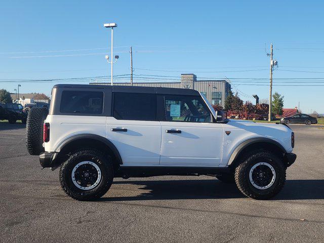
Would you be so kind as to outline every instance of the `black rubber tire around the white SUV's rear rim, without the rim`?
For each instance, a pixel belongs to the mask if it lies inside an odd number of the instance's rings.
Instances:
[[[99,184],[90,190],[77,188],[71,178],[73,168],[82,161],[92,161],[101,170]],[[73,199],[86,201],[95,200],[103,196],[110,188],[113,180],[113,166],[111,158],[99,150],[82,148],[72,152],[60,168],[60,184],[64,192]]]

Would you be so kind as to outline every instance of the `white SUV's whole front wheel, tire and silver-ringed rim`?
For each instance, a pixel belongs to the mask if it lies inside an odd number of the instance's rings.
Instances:
[[[268,199],[276,195],[286,181],[286,168],[273,153],[256,150],[235,169],[238,189],[254,199]]]

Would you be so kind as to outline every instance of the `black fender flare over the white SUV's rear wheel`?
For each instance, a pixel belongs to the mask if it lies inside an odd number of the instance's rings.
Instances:
[[[121,159],[116,146],[105,137],[96,134],[78,134],[67,138],[57,146],[55,152],[65,154],[65,152],[69,152],[80,147],[102,149],[103,152],[108,152],[108,154],[112,156],[114,167],[123,165],[123,160]]]

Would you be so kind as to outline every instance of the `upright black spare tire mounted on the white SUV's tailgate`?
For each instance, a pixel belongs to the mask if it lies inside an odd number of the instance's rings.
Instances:
[[[26,147],[31,155],[44,152],[43,124],[48,110],[46,108],[32,107],[28,112],[26,121]]]

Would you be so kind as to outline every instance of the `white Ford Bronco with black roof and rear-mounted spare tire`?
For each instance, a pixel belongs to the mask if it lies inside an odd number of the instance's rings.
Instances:
[[[296,154],[285,125],[224,118],[190,89],[56,85],[50,109],[27,117],[27,150],[77,200],[103,196],[114,177],[208,175],[267,199]]]

